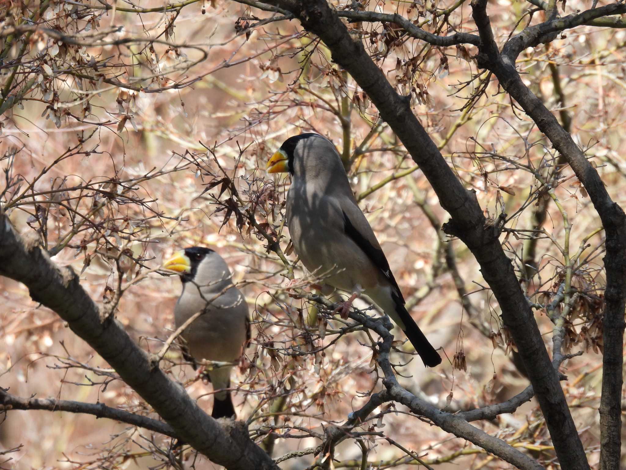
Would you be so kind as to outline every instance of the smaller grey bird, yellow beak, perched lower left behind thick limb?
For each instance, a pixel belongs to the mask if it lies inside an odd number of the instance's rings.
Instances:
[[[209,248],[193,246],[173,254],[163,268],[180,274],[183,290],[174,308],[176,328],[198,311],[203,313],[182,332],[195,360],[236,362],[250,340],[249,308],[232,284],[228,265]],[[211,416],[235,418],[228,389],[232,366],[215,367],[208,378],[216,390]]]

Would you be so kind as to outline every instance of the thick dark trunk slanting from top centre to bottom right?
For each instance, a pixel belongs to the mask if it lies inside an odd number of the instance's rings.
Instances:
[[[589,466],[585,451],[559,384],[557,371],[552,367],[511,261],[501,248],[498,239],[500,232],[487,223],[475,194],[466,190],[449,169],[433,140],[413,114],[408,97],[401,97],[389,85],[361,42],[351,39],[346,26],[325,0],[302,3],[275,0],[270,3],[294,13],[307,31],[317,34],[324,41],[331,50],[332,60],[347,70],[366,91],[381,117],[426,175],[441,206],[452,217],[444,225],[444,231],[458,236],[468,246],[480,264],[483,278],[500,303],[503,321],[528,370],[528,378],[550,429],[559,461],[564,468],[587,470]],[[483,26],[480,23],[488,26],[486,14],[478,18],[479,28]],[[485,43],[483,33],[491,35],[486,53],[499,56],[491,28],[481,29],[481,41]]]

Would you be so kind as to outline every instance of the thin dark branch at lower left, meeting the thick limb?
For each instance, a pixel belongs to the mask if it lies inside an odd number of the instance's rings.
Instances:
[[[74,402],[72,400],[57,400],[56,398],[22,398],[11,395],[0,387],[0,411],[8,410],[47,410],[91,414],[96,418],[115,419],[126,424],[143,427],[149,431],[160,432],[165,436],[178,437],[172,426],[165,422],[111,408],[103,403]]]

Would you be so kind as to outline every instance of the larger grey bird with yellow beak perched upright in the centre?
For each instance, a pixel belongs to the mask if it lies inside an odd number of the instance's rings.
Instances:
[[[403,330],[424,364],[441,357],[404,306],[387,258],[352,193],[334,144],[317,133],[287,138],[267,162],[268,173],[289,172],[287,227],[295,253],[311,273],[327,274],[324,283],[361,292]]]

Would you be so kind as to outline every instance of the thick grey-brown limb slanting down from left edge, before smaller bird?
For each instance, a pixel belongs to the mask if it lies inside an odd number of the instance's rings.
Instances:
[[[69,268],[59,269],[38,247],[26,246],[2,211],[0,275],[24,283],[33,300],[56,311],[167,421],[180,439],[211,461],[233,470],[278,469],[249,439],[242,423],[220,426],[185,389],[160,368],[152,367],[148,354],[131,340],[120,323],[100,315],[78,276]]]

